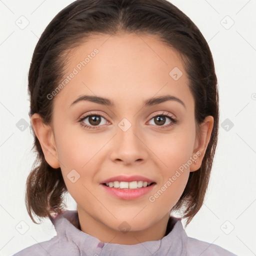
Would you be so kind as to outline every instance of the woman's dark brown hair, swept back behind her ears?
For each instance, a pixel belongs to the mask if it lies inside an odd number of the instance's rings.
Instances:
[[[93,33],[146,33],[158,36],[182,57],[195,100],[195,123],[207,115],[214,118],[210,141],[201,166],[189,173],[185,189],[172,209],[184,207],[187,223],[200,209],[209,181],[218,135],[218,89],[209,46],[197,26],[167,0],[76,0],[62,9],[47,25],[33,52],[29,74],[30,113],[51,123],[52,92],[65,70],[68,50]],[[63,61],[65,60],[65,61]],[[37,158],[26,181],[26,208],[29,216],[50,217],[65,208],[67,192],[60,168],[46,161],[37,137]],[[36,165],[37,164],[37,165]]]

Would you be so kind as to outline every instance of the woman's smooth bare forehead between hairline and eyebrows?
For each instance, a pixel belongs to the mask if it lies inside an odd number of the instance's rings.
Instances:
[[[153,35],[93,35],[68,56],[65,75],[75,75],[57,95],[62,107],[82,94],[118,98],[116,105],[166,93],[191,97],[178,53]]]

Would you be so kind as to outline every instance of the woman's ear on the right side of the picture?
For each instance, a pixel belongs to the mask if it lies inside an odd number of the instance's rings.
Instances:
[[[199,130],[197,131],[193,150],[193,159],[196,161],[196,163],[194,161],[192,162],[190,165],[190,171],[195,171],[200,168],[207,145],[210,141],[212,128],[213,117],[208,115],[204,118],[203,122],[199,126]]]

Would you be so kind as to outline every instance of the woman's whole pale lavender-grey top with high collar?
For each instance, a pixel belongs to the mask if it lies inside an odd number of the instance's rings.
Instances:
[[[63,211],[51,221],[56,236],[33,244],[13,256],[236,256],[218,245],[187,237],[180,219],[173,216],[168,220],[166,235],[162,239],[132,245],[102,242],[82,232],[75,210]]]

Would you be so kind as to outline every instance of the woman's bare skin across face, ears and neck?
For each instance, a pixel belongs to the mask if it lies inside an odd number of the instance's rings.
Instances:
[[[196,132],[194,99],[179,55],[152,35],[95,35],[69,56],[66,74],[94,48],[99,50],[95,57],[54,96],[52,123],[44,124],[35,113],[31,116],[32,127],[46,161],[53,168],[61,168],[68,192],[77,203],[83,232],[120,244],[161,239],[189,172],[200,167],[213,117],[207,116]],[[176,81],[169,75],[174,67],[183,72]],[[70,106],[83,94],[109,98],[115,106],[90,101]],[[142,107],[145,99],[165,94],[179,98],[185,107],[174,100]],[[95,129],[84,128],[78,122],[89,111],[103,116]],[[161,126],[157,125],[153,117],[161,116],[162,111],[178,122],[158,129],[171,122],[166,117]],[[131,124],[126,131],[118,126],[123,118]],[[83,123],[92,126],[88,119]],[[150,202],[149,196],[196,151],[201,153],[197,163],[190,164]],[[80,175],[74,183],[67,177],[72,169]],[[120,174],[145,176],[156,185],[137,199],[115,198],[104,191],[100,182]],[[127,233],[118,228],[123,221],[130,226]]]

